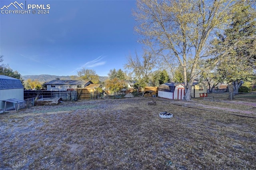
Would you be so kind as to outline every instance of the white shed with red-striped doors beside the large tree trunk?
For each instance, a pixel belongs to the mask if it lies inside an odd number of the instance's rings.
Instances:
[[[158,97],[172,100],[182,100],[185,89],[180,83],[164,83],[158,87]]]

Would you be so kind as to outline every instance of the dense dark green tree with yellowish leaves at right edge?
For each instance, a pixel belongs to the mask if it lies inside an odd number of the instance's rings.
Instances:
[[[228,82],[231,92],[238,93],[244,80],[254,77],[256,68],[256,10],[240,6],[224,32],[212,41],[218,79]]]

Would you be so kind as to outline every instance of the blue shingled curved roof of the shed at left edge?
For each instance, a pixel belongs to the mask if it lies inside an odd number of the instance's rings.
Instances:
[[[15,88],[23,88],[23,85],[19,79],[0,75],[0,90]]]

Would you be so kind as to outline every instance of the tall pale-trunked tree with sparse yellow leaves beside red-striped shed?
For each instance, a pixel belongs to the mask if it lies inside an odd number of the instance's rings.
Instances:
[[[210,34],[214,28],[226,24],[239,3],[244,1],[137,0],[136,31],[143,36],[142,42],[157,54],[168,55],[174,62],[178,60],[182,66],[185,100],[190,100],[198,61],[204,56]]]

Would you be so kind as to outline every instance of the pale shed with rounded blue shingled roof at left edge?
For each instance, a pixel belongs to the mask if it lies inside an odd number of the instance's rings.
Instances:
[[[6,100],[24,99],[24,88],[19,79],[0,75],[0,110],[4,109]]]

